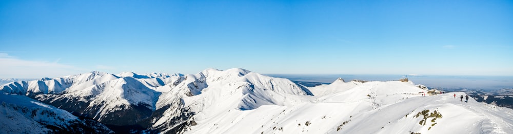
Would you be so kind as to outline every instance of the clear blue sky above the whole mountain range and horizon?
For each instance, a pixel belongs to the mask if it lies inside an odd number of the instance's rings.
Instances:
[[[0,1],[0,78],[513,75],[513,1]]]

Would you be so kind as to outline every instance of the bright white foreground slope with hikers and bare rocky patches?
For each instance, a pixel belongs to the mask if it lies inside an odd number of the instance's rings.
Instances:
[[[203,111],[187,132],[513,133],[513,110],[472,99],[460,102],[452,93],[422,97],[419,92],[425,90],[413,83],[336,81],[310,89],[331,93],[294,105],[232,108],[215,116],[203,116],[209,112]]]

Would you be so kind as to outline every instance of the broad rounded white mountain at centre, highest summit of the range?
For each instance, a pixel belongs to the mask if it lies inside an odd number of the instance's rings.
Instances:
[[[183,117],[184,112],[176,111],[176,105],[169,105],[176,104],[179,100],[183,101],[181,107],[194,114],[188,119],[196,120],[189,120],[187,123],[194,125],[197,120],[217,118],[230,110],[244,111],[264,105],[290,106],[312,98],[308,89],[290,80],[272,78],[239,68],[225,71],[206,69],[199,74],[185,77],[180,84],[170,85],[170,92],[161,95],[157,108],[170,108],[152,123],[153,128],[166,126],[167,123],[176,121],[177,117]],[[163,132],[168,131],[170,130],[163,129]]]

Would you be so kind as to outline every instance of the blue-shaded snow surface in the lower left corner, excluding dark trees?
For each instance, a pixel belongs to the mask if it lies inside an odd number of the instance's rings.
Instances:
[[[17,94],[0,93],[0,133],[48,133],[46,125],[69,126],[71,113]]]

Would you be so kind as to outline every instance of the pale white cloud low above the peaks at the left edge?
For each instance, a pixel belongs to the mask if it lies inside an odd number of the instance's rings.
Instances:
[[[0,78],[44,78],[88,71],[71,65],[44,60],[23,60],[8,53],[0,53]]]

